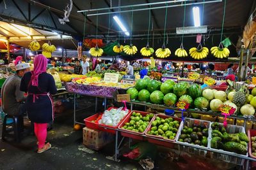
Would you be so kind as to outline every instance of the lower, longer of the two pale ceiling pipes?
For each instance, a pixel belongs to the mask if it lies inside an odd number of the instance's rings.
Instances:
[[[126,12],[131,12],[131,11],[145,11],[145,10],[157,10],[157,9],[163,9],[163,8],[173,8],[173,7],[178,7],[178,6],[190,6],[190,5],[198,5],[198,4],[208,4],[208,3],[220,3],[222,0],[214,0],[214,1],[205,1],[205,2],[200,2],[200,3],[186,3],[186,4],[174,4],[174,5],[168,5],[168,6],[157,6],[157,7],[152,7],[152,8],[141,8],[141,9],[136,9],[136,10],[126,10],[126,11],[114,11],[114,12],[105,12],[105,13],[92,13],[88,14],[87,16],[96,16],[96,15],[107,15],[107,14],[114,14],[114,13],[126,13]],[[147,4],[148,5],[148,4]],[[132,6],[132,5],[131,5]]]

